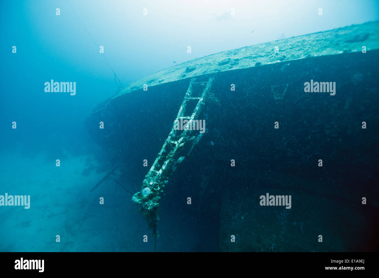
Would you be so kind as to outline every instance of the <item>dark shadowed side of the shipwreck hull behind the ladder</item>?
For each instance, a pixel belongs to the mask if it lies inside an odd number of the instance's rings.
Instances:
[[[140,190],[191,78],[213,77],[206,132],[160,201],[165,223],[180,219],[196,235],[198,244],[188,250],[375,250],[378,63],[377,49],[333,52],[189,76],[147,91],[129,88],[95,109],[89,133],[109,152],[112,167],[133,173]],[[304,92],[311,79],[335,82],[335,95]],[[266,193],[291,195],[291,208],[261,206]]]

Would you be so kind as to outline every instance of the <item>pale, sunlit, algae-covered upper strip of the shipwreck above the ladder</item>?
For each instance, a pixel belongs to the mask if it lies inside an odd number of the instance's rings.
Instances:
[[[96,107],[97,109],[95,109],[94,113],[106,107],[109,101],[117,99],[119,96],[143,89],[144,84],[156,86],[193,78],[194,76],[217,74],[222,71],[274,64],[283,61],[290,62],[310,56],[360,52],[363,46],[366,47],[366,51],[378,49],[379,32],[372,32],[372,30],[379,30],[379,21],[259,43],[196,58],[157,71],[133,82],[119,94],[109,98],[102,107]]]

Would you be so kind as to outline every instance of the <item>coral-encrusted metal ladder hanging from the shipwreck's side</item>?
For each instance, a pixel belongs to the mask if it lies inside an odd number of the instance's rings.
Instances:
[[[158,195],[159,193],[163,193],[163,187],[168,183],[169,176],[192,151],[203,135],[199,130],[194,130],[193,125],[199,124],[200,120],[198,117],[204,110],[205,101],[211,90],[213,77],[209,78],[207,82],[195,81],[196,79],[193,78],[189,82],[188,90],[171,132],[147,173],[146,179],[143,180],[141,191],[133,195],[133,202],[143,204],[144,214],[147,217],[150,228],[155,231],[155,237],[157,236],[157,210],[159,207],[158,200],[160,199]],[[193,106],[194,108],[191,109]],[[185,120],[188,122],[185,122]],[[182,123],[186,128],[183,128],[183,130],[178,129],[177,127]],[[185,123],[188,124],[186,125]]]

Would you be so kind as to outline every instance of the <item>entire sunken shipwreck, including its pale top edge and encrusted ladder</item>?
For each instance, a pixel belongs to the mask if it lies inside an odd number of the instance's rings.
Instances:
[[[204,235],[194,251],[367,250],[379,207],[366,203],[377,182],[378,29],[247,46],[134,82],[89,119],[107,123],[89,133],[111,154],[92,190],[110,177],[121,185],[155,250],[162,219]]]

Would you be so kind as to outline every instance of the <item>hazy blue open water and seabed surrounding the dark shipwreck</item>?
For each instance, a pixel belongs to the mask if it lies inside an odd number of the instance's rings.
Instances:
[[[235,17],[229,17],[231,8]],[[142,240],[152,232],[131,202],[146,169],[139,158],[127,158],[127,190],[107,179],[90,192],[111,171],[114,157],[93,140],[86,121],[120,82],[125,87],[220,51],[379,20],[379,4],[2,1],[0,13],[0,195],[30,196],[28,209],[0,207],[0,251],[121,252],[154,250],[153,240]],[[75,95],[46,92],[51,80],[75,82]],[[141,134],[149,136],[148,130]],[[126,132],[125,138],[141,134]],[[157,249],[219,250],[218,239],[204,243],[198,230],[204,224],[188,227],[180,213],[170,214],[181,210],[177,203],[162,208]],[[218,226],[208,225],[216,235]]]

